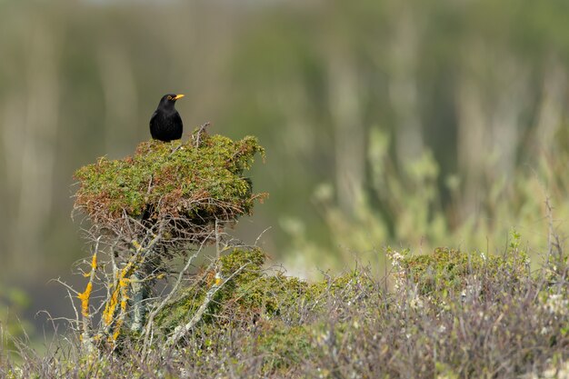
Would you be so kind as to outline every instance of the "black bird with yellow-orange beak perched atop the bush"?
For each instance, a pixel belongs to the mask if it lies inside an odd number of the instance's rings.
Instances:
[[[150,135],[154,139],[170,142],[182,138],[182,117],[175,110],[175,101],[184,95],[167,94],[162,96],[155,113],[150,117]]]

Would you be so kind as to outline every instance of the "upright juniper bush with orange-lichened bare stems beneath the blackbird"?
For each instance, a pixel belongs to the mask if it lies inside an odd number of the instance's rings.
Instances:
[[[153,336],[161,333],[164,314],[172,311],[169,301],[184,289],[183,283],[194,289],[192,296],[200,302],[183,309],[184,314],[195,314],[186,329],[223,294],[221,279],[195,293],[207,274],[187,275],[193,261],[203,259],[205,245],[230,248],[224,240],[225,227],[249,214],[255,199],[265,197],[254,194],[251,180],[244,176],[254,156],[264,155],[265,150],[254,137],[234,142],[209,136],[206,126],[196,129],[186,142],[143,143],[134,157],[100,158],[75,173],[79,180],[75,209],[92,224],[85,236],[93,253],[82,271],[88,278],[84,291],[60,282],[81,302],[81,319],[76,311],[74,327],[88,351],[115,350],[127,333],[144,335],[144,348],[150,349]],[[184,260],[183,269],[175,270],[175,257]],[[230,281],[239,274],[227,274],[223,267],[215,270],[215,276],[226,274],[225,281]],[[168,279],[174,284],[158,294],[156,286]],[[176,328],[184,324],[181,317],[176,321]],[[168,344],[177,343],[183,334],[184,329],[175,329]]]

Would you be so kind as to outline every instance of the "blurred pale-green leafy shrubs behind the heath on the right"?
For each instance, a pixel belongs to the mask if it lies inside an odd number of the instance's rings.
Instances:
[[[503,176],[488,182],[477,209],[461,217],[461,175],[447,175],[444,190],[440,190],[441,169],[429,151],[401,171],[394,171],[394,162],[386,154],[388,140],[379,130],[372,132],[368,164],[373,182],[358,199],[352,217],[346,218],[334,204],[332,185],[323,184],[314,191],[314,204],[319,206],[333,244],[344,252],[344,261],[349,261],[353,252],[364,261],[374,261],[388,241],[425,250],[444,244],[502,254],[513,227],[523,232],[522,244],[536,258],[550,248],[552,231],[557,230],[564,239],[564,220],[569,215],[566,153],[542,155],[534,166],[515,168],[508,174],[511,179]],[[546,202],[553,209],[548,209]],[[304,251],[318,259],[321,247],[312,244],[302,225],[301,219],[283,224],[294,237],[296,254]]]

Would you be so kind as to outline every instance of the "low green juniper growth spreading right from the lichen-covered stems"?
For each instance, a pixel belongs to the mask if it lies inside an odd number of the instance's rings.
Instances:
[[[298,312],[301,304],[317,314],[325,311],[331,297],[356,301],[358,293],[374,287],[372,278],[357,270],[313,283],[281,272],[268,274],[263,269],[265,260],[266,254],[258,248],[235,248],[220,258],[222,277],[230,277],[245,268],[219,290],[200,328],[204,324],[238,326],[275,318],[294,324],[303,317]],[[214,282],[213,272],[202,274],[200,280],[185,288],[156,316],[158,328],[167,334],[177,325],[185,324],[203,304]]]

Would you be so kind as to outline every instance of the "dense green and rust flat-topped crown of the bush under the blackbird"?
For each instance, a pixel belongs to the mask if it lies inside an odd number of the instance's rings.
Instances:
[[[204,233],[200,226],[213,220],[249,214],[255,199],[265,194],[253,193],[244,171],[265,149],[253,136],[232,141],[205,133],[197,138],[196,133],[185,142],[144,142],[134,156],[102,157],[82,167],[75,173],[80,185],[75,208],[111,230],[120,230],[126,218],[150,223],[171,219],[176,227],[198,234]]]

